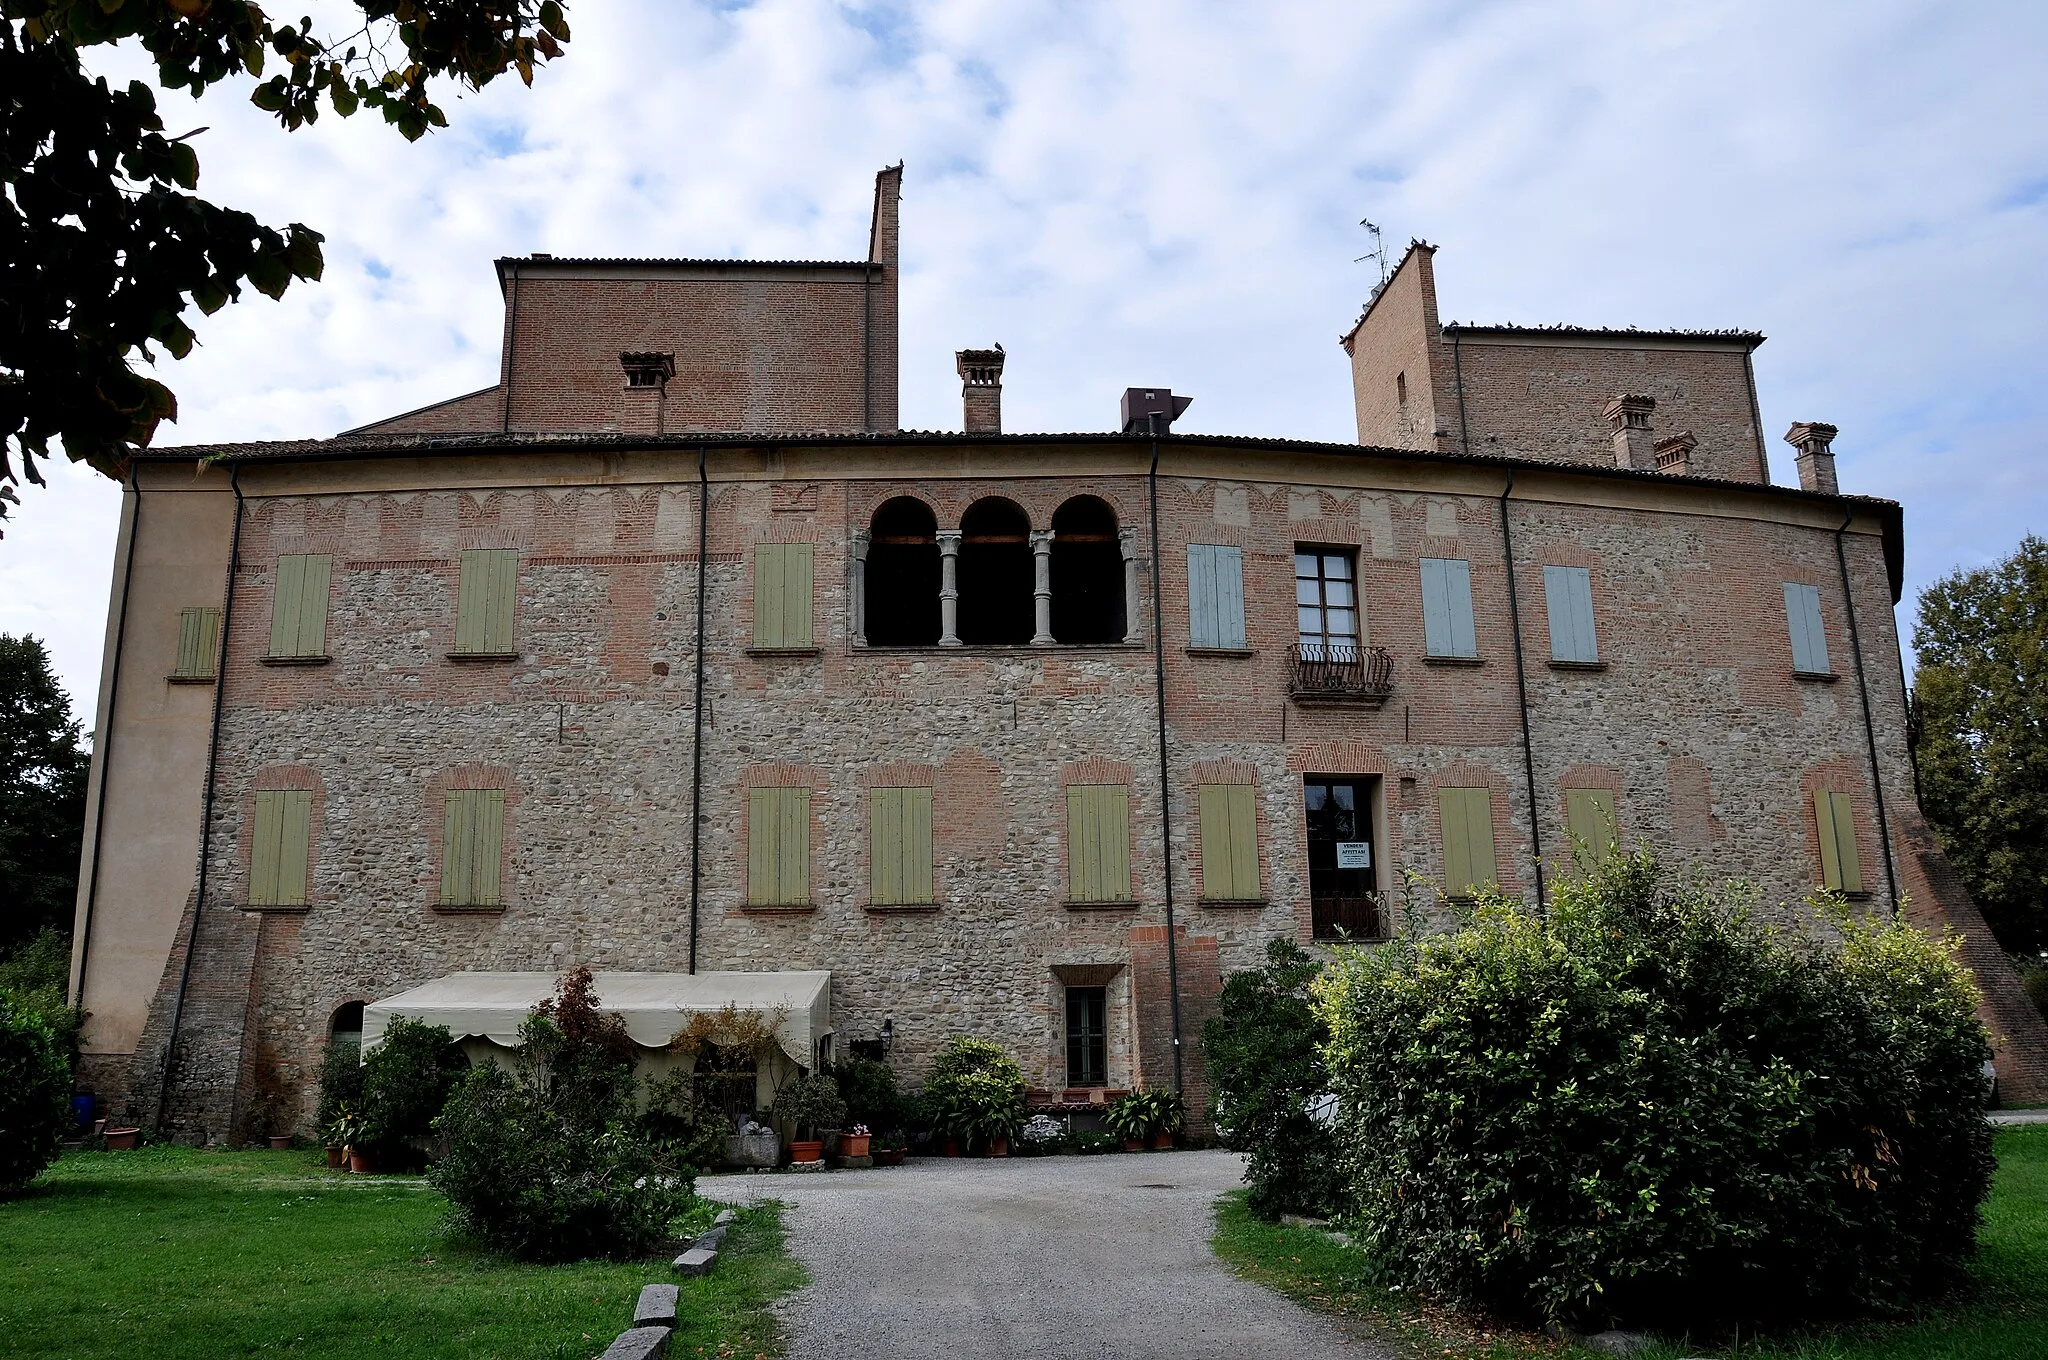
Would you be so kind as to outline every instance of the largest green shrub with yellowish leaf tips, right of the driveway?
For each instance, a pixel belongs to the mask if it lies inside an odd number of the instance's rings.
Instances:
[[[1399,1282],[1575,1323],[1890,1311],[1991,1176],[1954,940],[1767,930],[1649,856],[1341,948],[1317,981],[1346,1208]]]

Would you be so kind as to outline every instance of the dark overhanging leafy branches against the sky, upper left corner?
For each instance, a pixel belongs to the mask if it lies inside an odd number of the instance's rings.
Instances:
[[[319,231],[276,229],[201,199],[193,137],[166,135],[156,92],[113,88],[80,51],[133,41],[158,84],[201,96],[248,78],[285,129],[373,109],[403,137],[444,127],[436,86],[532,84],[561,55],[557,0],[354,0],[360,27],[319,37],[250,0],[0,0],[0,514],[51,440],[119,475],[176,420],[137,371],[195,342],[186,307],[219,311],[242,285],[281,297],[322,272]],[[16,467],[18,459],[18,467]]]

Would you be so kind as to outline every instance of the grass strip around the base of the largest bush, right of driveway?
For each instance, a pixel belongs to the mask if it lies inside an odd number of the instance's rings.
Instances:
[[[1997,1135],[1999,1176],[1985,1206],[1970,1284],[1907,1323],[1860,1325],[1812,1335],[1743,1340],[1749,1360],[2048,1360],[2048,1124]],[[1417,1354],[1507,1358],[1575,1348],[1505,1333],[1470,1319],[1417,1307],[1401,1292],[1366,1284],[1360,1256],[1315,1229],[1264,1223],[1241,1194],[1217,1213],[1217,1253],[1241,1276],[1325,1313],[1354,1317]],[[1657,1346],[1642,1360],[1675,1360],[1706,1348]]]

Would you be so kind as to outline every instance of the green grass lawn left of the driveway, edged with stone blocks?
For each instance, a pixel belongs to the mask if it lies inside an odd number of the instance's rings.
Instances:
[[[319,1153],[74,1153],[0,1200],[0,1356],[588,1360],[674,1280],[666,1260],[508,1264],[451,1241],[442,1208]],[[776,1210],[741,1210],[717,1270],[682,1280],[670,1354],[780,1354],[768,1303],[799,1284]]]

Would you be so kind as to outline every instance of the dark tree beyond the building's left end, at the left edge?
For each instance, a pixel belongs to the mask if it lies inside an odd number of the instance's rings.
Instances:
[[[0,633],[0,954],[70,934],[90,764],[43,643]]]

